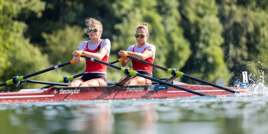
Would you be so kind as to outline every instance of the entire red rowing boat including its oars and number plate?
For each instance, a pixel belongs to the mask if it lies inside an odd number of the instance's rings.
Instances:
[[[84,57],[88,60],[104,64],[106,66],[115,68],[123,72],[127,77],[119,82],[108,82],[107,86],[98,86],[98,87],[56,87],[50,88],[53,85],[67,86],[71,80],[74,78],[81,76],[81,74],[77,74],[71,77],[64,77],[63,80],[58,82],[42,82],[36,80],[26,80],[26,78],[35,76],[37,74],[44,73],[46,71],[51,71],[56,68],[66,66],[68,64],[74,63],[74,61],[70,61],[67,63],[63,63],[54,67],[50,67],[44,69],[42,71],[38,71],[32,74],[28,74],[26,76],[16,76],[13,79],[7,80],[4,83],[0,84],[11,85],[11,84],[21,84],[24,82],[32,82],[39,84],[50,84],[46,86],[47,88],[40,89],[22,89],[19,92],[13,93],[0,93],[0,103],[24,103],[24,102],[57,102],[57,101],[80,101],[80,100],[96,100],[96,99],[150,99],[150,98],[178,98],[178,97],[190,97],[190,96],[219,96],[219,95],[228,95],[228,94],[239,94],[247,90],[247,88],[243,88],[247,86],[248,83],[240,83],[241,87],[222,87],[219,85],[215,85],[210,82],[206,82],[204,80],[200,80],[189,75],[180,72],[179,69],[171,69],[158,66],[153,63],[147,63],[144,60],[137,59],[135,57],[131,57],[128,55],[124,55],[125,57],[132,58],[134,60],[138,60],[142,63],[149,64],[156,68],[167,71],[172,74],[172,77],[166,80],[159,80],[156,78],[148,77],[146,75],[140,74],[137,71],[132,70],[131,68],[124,68],[119,66],[114,66],[111,63],[120,62],[120,60],[106,63],[100,60],[96,60],[91,57],[87,57],[82,54],[78,54],[77,56]],[[143,77],[145,79],[152,80],[153,82],[150,85],[126,85],[126,83],[135,76]],[[195,80],[201,82],[206,85],[190,85],[182,82],[174,81],[177,77],[186,77],[191,80]],[[243,75],[244,79],[244,75]],[[246,80],[247,81],[247,80]],[[60,83],[65,82],[65,83]],[[52,84],[52,85],[51,85]]]

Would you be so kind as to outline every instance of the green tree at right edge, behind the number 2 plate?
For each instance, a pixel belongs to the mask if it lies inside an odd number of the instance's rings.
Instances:
[[[219,17],[224,27],[225,60],[234,73],[232,81],[241,80],[241,72],[248,71],[255,82],[268,70],[267,1],[219,1]],[[267,83],[267,76],[264,76]]]

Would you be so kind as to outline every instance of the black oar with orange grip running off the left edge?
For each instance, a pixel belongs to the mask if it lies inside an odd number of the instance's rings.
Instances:
[[[74,60],[71,60],[69,62],[62,63],[62,64],[59,64],[57,66],[50,67],[50,68],[47,68],[47,69],[44,69],[44,70],[41,70],[41,71],[38,71],[38,72],[35,72],[35,73],[32,73],[32,74],[28,74],[28,75],[25,75],[25,76],[19,76],[19,77],[18,76],[15,76],[15,77],[13,77],[13,79],[10,79],[10,80],[7,80],[4,83],[1,83],[0,84],[0,87],[1,86],[4,86],[4,85],[18,84],[20,81],[22,81],[22,80],[24,80],[26,78],[29,78],[29,77],[32,77],[32,76],[35,76],[35,75],[38,75],[38,74],[42,74],[44,72],[51,71],[51,70],[54,70],[54,69],[63,67],[65,65],[74,64],[74,63],[75,63],[75,61]]]

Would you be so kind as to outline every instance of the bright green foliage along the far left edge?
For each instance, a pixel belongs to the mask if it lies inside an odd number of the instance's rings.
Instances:
[[[24,37],[23,33],[27,25],[17,20],[22,12],[34,12],[40,15],[44,6],[45,3],[39,0],[0,1],[1,83],[11,79],[12,76],[27,75],[49,66],[47,55],[42,54],[38,47],[30,44],[29,39]],[[33,79],[42,80],[43,77],[39,75]],[[54,80],[54,78],[45,78],[45,80]],[[22,85],[20,88],[40,87],[40,85]],[[5,86],[2,89],[13,90],[15,87]]]

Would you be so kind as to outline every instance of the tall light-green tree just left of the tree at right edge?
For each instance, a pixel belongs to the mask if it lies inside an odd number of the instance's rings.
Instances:
[[[180,13],[184,35],[193,50],[186,66],[186,74],[216,83],[221,80],[226,85],[232,74],[224,62],[222,25],[217,18],[215,1],[180,0]],[[186,82],[190,82],[186,80]]]

